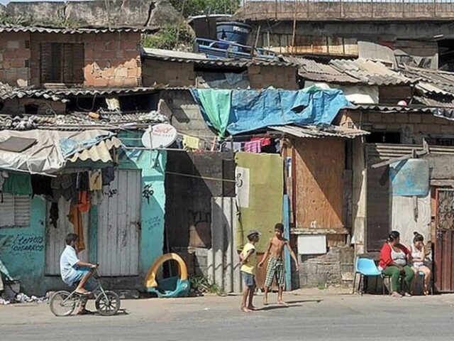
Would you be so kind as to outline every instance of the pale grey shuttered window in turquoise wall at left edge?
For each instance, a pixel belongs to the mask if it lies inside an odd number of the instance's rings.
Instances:
[[[3,194],[0,200],[0,227],[28,227],[30,225],[30,197]]]

